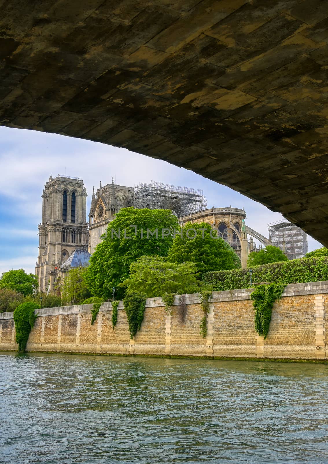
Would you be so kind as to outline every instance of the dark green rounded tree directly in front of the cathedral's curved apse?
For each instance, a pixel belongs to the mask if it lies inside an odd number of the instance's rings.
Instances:
[[[204,272],[240,267],[240,260],[231,246],[217,237],[217,231],[205,222],[187,223],[182,229],[182,237],[175,236],[167,259],[172,263],[192,261],[199,278]]]

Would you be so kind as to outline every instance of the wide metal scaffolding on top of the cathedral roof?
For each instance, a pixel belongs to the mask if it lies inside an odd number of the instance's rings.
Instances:
[[[206,208],[202,190],[175,187],[161,182],[141,183],[134,188],[135,208],[170,209],[178,216],[197,213]]]

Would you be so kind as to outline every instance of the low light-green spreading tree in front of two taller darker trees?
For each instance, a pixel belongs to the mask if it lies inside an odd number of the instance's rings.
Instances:
[[[151,297],[164,293],[195,293],[201,283],[194,263],[170,263],[167,258],[153,255],[137,258],[130,265],[130,277],[119,286],[125,287],[127,294],[138,291]]]

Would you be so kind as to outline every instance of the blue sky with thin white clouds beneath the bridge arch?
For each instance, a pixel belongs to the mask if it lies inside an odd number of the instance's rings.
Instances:
[[[208,207],[245,208],[246,223],[266,237],[267,223],[282,218],[265,206],[199,174],[177,168],[124,148],[64,135],[0,127],[0,274],[24,268],[34,273],[37,225],[41,221],[42,191],[50,174],[82,177],[87,188],[87,213],[93,185],[111,182],[134,186],[150,180],[200,188]],[[256,241],[256,240],[255,240]],[[309,250],[320,245],[308,238]]]

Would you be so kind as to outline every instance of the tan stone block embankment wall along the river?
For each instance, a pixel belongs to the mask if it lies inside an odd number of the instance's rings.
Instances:
[[[165,313],[161,298],[148,298],[141,330],[132,340],[122,302],[114,329],[111,303],[102,304],[93,325],[92,304],[40,309],[26,350],[327,363],[328,281],[287,285],[281,299],[274,303],[266,340],[254,330],[251,292],[213,292],[205,338],[199,333],[204,314],[198,294],[186,296],[184,322],[176,310],[178,297],[172,315]],[[18,349],[12,313],[0,314],[0,349]]]

